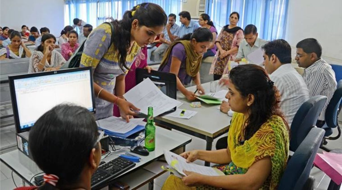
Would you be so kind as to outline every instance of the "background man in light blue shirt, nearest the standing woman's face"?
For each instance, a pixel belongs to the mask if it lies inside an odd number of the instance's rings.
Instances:
[[[176,15],[175,14],[169,14],[169,23],[166,25],[164,28],[163,33],[160,34],[159,41],[162,43],[157,47],[157,49],[153,52],[154,55],[154,60],[160,61],[162,58],[162,54],[165,52],[165,50],[169,47],[171,44],[171,39],[172,38],[177,38],[174,36],[175,34],[178,33],[179,31],[179,26],[175,24],[176,22]]]

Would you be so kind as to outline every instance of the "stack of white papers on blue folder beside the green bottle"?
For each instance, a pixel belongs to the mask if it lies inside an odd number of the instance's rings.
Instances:
[[[127,138],[134,133],[140,132],[145,129],[144,118],[130,119],[127,123],[126,120],[115,116],[97,120],[97,125],[100,130],[104,130],[105,134],[121,138]]]

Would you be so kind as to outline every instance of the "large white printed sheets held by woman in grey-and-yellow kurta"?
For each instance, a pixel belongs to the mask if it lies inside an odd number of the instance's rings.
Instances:
[[[152,106],[154,117],[183,104],[162,93],[149,78],[134,86],[123,96],[146,115],[147,108]]]

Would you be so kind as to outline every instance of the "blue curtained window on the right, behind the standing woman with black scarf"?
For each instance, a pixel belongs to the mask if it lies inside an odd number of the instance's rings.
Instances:
[[[249,24],[258,28],[265,40],[285,38],[289,0],[207,0],[207,12],[218,31],[229,24],[229,15],[238,12],[238,26]]]

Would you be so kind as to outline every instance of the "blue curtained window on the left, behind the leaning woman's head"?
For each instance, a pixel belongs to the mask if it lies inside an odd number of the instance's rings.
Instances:
[[[178,15],[182,10],[182,0],[65,0],[64,24],[72,26],[73,19],[79,18],[96,27],[110,17],[121,19],[125,11],[144,2],[160,5],[167,15]]]

